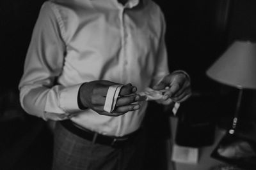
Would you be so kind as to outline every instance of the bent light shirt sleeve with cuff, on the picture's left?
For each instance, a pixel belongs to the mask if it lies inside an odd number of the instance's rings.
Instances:
[[[56,85],[65,57],[60,18],[44,3],[33,30],[19,83],[20,103],[31,115],[63,120],[81,111],[77,104],[80,85]]]

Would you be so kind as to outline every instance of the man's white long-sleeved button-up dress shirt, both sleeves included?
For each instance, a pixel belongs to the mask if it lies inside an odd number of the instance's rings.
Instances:
[[[132,83],[138,92],[168,74],[163,13],[156,3],[130,0],[54,0],[43,4],[20,80],[20,102],[44,120],[73,122],[101,134],[136,131],[141,109],[119,117],[80,110],[81,83]]]

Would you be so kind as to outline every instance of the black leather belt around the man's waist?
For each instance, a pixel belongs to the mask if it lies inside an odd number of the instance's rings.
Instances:
[[[85,129],[84,127],[81,127],[71,120],[63,120],[60,121],[61,125],[65,127],[68,131],[72,132],[73,134],[76,134],[77,136],[92,141],[92,143],[99,143],[102,145],[108,145],[113,147],[123,146],[125,143],[131,141],[136,137],[138,132],[137,130],[135,132],[132,132],[131,134],[127,134],[122,137],[116,137],[116,136],[106,136],[99,134],[97,132],[90,131],[89,129]]]

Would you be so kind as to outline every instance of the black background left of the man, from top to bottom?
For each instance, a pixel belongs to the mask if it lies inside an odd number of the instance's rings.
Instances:
[[[42,2],[0,1],[0,169],[51,169],[51,132],[44,120],[22,110],[18,92]]]

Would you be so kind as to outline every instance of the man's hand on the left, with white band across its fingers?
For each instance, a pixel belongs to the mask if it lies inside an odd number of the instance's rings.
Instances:
[[[113,113],[108,113],[103,110],[108,89],[111,85],[116,84],[117,83],[106,80],[90,81],[88,83],[84,83],[81,85],[79,90],[79,99],[81,104],[86,108],[90,108],[96,111],[100,115],[107,115],[111,117],[116,117],[123,115],[128,111],[140,109],[140,104],[135,103],[141,100],[140,96],[135,94],[137,88],[129,83],[124,85],[120,90]]]

